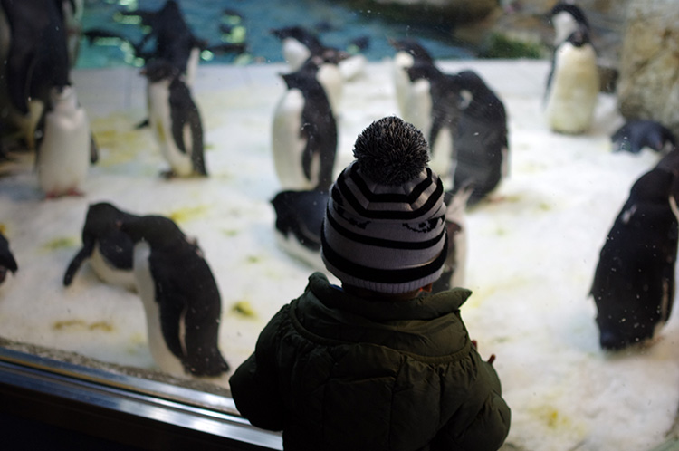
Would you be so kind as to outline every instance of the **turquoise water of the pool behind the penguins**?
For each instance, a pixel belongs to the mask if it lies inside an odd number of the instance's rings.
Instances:
[[[120,11],[138,8],[155,11],[165,5],[165,0],[86,0],[83,29],[99,28],[128,37],[138,43],[144,35],[133,18],[125,18]],[[204,53],[204,62],[238,63],[282,62],[281,44],[269,33],[272,28],[302,25],[318,30],[320,41],[347,49],[351,41],[366,36],[368,60],[378,61],[393,55],[387,38],[415,37],[435,58],[469,59],[473,53],[450,42],[450,29],[423,24],[401,24],[389,21],[372,11],[351,10],[345,5],[328,1],[311,0],[179,0],[186,22],[194,34],[210,44],[241,40],[247,45],[246,53],[216,55]],[[224,14],[225,10],[238,12],[242,19]],[[123,20],[127,19],[127,20]],[[221,25],[221,26],[220,26]],[[231,34],[223,33],[226,26]],[[327,31],[326,31],[327,30]],[[129,46],[128,46],[129,47]],[[91,45],[83,38],[78,67],[111,67],[137,64],[131,49],[118,40]]]

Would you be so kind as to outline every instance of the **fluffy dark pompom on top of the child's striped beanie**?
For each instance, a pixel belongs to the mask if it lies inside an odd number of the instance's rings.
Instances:
[[[412,124],[390,116],[376,120],[359,135],[354,158],[364,177],[380,185],[401,185],[426,168],[426,139]]]

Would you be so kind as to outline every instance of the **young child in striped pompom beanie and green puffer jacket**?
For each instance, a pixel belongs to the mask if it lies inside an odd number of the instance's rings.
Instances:
[[[460,316],[471,294],[429,294],[445,261],[444,188],[426,140],[373,122],[331,187],[322,258],[230,379],[241,414],[286,450],[495,450],[510,427],[491,361]]]

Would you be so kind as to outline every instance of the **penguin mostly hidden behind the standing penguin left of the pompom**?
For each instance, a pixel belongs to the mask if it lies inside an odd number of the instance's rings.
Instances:
[[[326,47],[316,34],[301,26],[273,29],[271,33],[282,42],[283,58],[290,72],[297,72],[311,58],[320,61],[316,78],[328,96],[332,110],[337,114],[344,91],[344,76],[339,64],[349,57],[333,47]],[[320,60],[319,60],[320,58]]]

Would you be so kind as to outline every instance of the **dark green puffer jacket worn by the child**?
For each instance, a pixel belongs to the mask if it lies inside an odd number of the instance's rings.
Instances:
[[[510,408],[460,317],[470,293],[371,301],[314,273],[230,379],[235,405],[286,450],[495,450]]]

